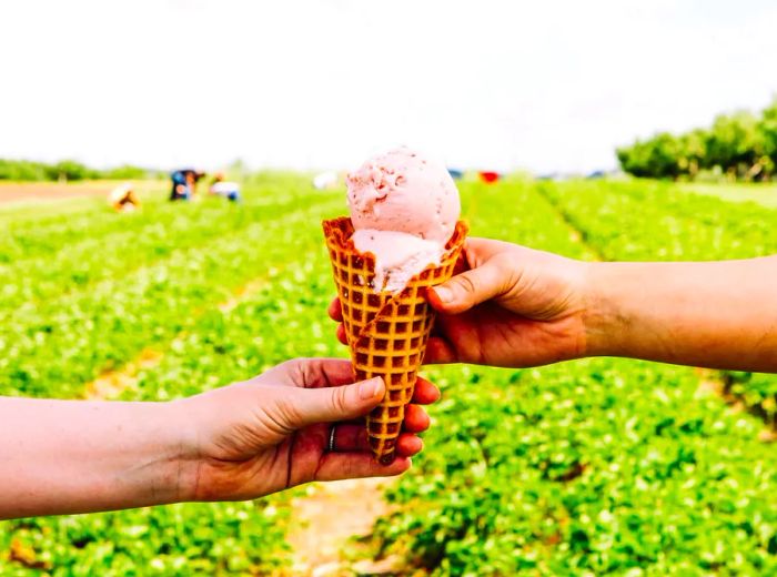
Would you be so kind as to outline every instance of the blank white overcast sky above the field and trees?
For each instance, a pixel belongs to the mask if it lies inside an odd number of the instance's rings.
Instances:
[[[0,3],[0,156],[587,171],[777,93],[774,0]]]

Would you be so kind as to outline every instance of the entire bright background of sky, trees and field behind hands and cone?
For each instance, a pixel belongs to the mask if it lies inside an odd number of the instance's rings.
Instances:
[[[2,1],[0,405],[346,357],[321,223],[397,144],[476,236],[777,254],[775,54],[774,0]],[[406,475],[2,522],[0,575],[777,575],[777,375],[422,371]]]

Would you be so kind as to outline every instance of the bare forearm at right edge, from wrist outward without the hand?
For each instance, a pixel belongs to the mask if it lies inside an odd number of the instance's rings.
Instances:
[[[586,353],[777,372],[777,256],[594,263]]]

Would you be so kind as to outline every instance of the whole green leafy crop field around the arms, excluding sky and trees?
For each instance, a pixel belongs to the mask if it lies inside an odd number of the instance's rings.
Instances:
[[[473,234],[579,259],[777,253],[777,210],[678,185],[461,191]],[[344,212],[344,191],[269,174],[244,192],[242,205],[171,205],[160,191],[135,214],[97,199],[0,209],[0,394],[80,398],[130,364],[113,396],[168,399],[293,356],[345,356],[320,230]],[[444,396],[425,452],[387,495],[396,509],[375,526],[376,555],[437,575],[777,574],[767,424],[699,394],[693,368],[597,358],[426,376]],[[730,381],[774,416],[777,378]],[[287,499],[2,523],[0,574],[283,573]]]

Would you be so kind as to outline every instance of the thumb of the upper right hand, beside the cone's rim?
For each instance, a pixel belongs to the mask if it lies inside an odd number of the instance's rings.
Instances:
[[[443,313],[456,314],[505,292],[505,273],[495,262],[455,275],[428,292],[430,303]]]

